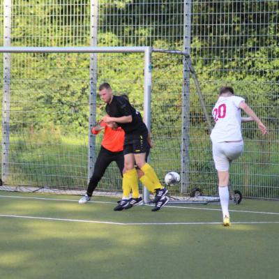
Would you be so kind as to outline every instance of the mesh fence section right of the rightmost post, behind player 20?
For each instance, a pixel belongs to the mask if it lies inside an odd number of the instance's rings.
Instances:
[[[279,3],[193,1],[192,10],[191,56],[209,112],[218,98],[218,88],[231,85],[269,129],[269,135],[262,137],[255,123],[243,124],[245,151],[232,164],[232,184],[246,197],[279,197]],[[192,97],[195,104],[195,95]],[[191,142],[200,149],[201,141],[206,142],[208,136],[199,135],[203,117],[193,105],[190,119],[197,131],[192,133],[195,138]],[[207,159],[202,164],[202,158],[198,159],[196,183],[210,190],[215,183],[209,179],[210,148],[200,154]]]

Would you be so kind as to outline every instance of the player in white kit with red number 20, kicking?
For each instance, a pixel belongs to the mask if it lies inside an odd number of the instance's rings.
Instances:
[[[241,110],[249,117],[241,117]],[[241,122],[256,121],[262,134],[266,126],[241,97],[234,96],[232,87],[222,87],[213,107],[215,126],[211,131],[212,153],[218,172],[218,190],[223,211],[223,225],[229,226],[229,163],[239,158],[243,151]]]

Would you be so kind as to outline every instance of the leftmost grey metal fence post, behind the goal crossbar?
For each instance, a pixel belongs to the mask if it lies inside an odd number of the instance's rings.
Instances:
[[[4,0],[3,45],[10,47],[12,1]],[[10,53],[3,54],[2,181],[8,181],[10,146]]]

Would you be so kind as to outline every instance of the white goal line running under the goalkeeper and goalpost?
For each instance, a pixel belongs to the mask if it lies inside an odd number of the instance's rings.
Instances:
[[[52,201],[61,201],[61,202],[78,202],[76,199],[54,199],[54,198],[47,198],[47,197],[22,197],[22,196],[7,196],[7,195],[0,195],[1,197],[10,197],[16,199],[41,199],[41,200],[52,200]],[[115,204],[115,202],[96,202],[96,201],[89,201],[91,203],[97,204]],[[152,204],[145,204],[149,206],[153,206]],[[175,208],[175,209],[196,209],[196,210],[205,210],[205,211],[221,211],[221,209],[209,209],[204,207],[193,207],[193,206],[164,206],[168,208]],[[266,212],[266,211],[247,211],[247,210],[229,210],[230,212],[238,212],[238,213],[256,213],[256,214],[268,214],[268,215],[279,215],[277,212]]]

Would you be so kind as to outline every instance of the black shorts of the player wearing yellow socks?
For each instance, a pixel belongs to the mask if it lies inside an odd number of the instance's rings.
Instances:
[[[123,154],[140,154],[146,153],[146,150],[149,147],[149,143],[147,142],[148,134],[143,135],[125,135],[124,146],[123,146]]]

